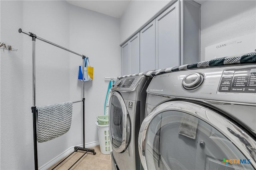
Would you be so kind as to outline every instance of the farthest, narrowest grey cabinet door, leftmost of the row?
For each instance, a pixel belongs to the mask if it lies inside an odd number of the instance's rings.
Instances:
[[[122,75],[130,74],[129,66],[129,44],[128,42],[122,45],[121,47],[121,55],[122,55]]]

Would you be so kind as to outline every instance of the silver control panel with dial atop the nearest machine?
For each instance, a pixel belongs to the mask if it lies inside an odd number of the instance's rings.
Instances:
[[[156,75],[147,93],[256,104],[256,64],[230,64]]]

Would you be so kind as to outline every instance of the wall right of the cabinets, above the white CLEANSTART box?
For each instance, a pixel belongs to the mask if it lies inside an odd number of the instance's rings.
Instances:
[[[205,59],[205,47],[255,32],[256,1],[207,0],[203,2],[200,60]]]

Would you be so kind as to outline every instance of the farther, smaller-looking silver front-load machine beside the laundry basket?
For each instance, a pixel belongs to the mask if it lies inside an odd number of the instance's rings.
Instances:
[[[140,170],[138,133],[144,119],[146,89],[152,78],[132,76],[117,80],[111,88],[109,132],[113,170]]]

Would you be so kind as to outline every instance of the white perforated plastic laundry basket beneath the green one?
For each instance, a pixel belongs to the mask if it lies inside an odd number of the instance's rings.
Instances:
[[[98,130],[98,137],[100,142],[100,152],[102,154],[110,154],[112,151],[111,144],[110,144],[110,136],[107,125],[100,125],[98,121],[96,121],[97,130]]]

